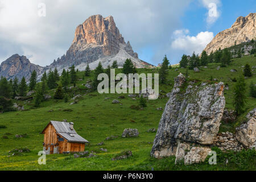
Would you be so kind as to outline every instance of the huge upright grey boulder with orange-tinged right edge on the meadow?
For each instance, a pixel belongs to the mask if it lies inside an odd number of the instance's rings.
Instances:
[[[182,74],[175,78],[151,151],[155,158],[175,155],[177,140],[210,145],[218,133],[225,108],[224,83],[185,82]]]

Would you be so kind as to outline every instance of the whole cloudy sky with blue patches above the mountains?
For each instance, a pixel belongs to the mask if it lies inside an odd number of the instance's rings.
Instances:
[[[0,0],[0,63],[19,53],[49,65],[71,46],[79,24],[101,14],[114,16],[140,59],[156,65],[167,55],[176,64],[255,10],[255,0]]]

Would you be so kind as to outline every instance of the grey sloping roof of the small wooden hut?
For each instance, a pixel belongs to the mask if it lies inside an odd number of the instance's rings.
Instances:
[[[68,142],[89,143],[86,139],[77,134],[75,129],[71,130],[68,122],[51,121],[51,123],[56,132],[67,139]]]

